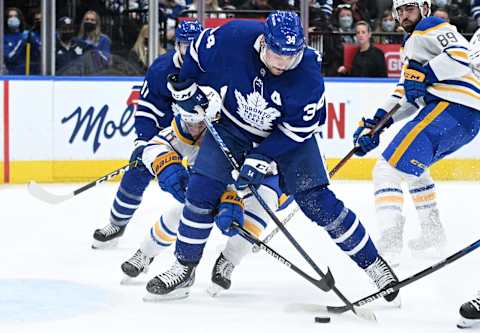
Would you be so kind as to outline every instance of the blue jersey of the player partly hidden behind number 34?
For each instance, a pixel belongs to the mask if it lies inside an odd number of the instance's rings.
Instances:
[[[167,75],[178,73],[180,67],[180,54],[172,50],[158,57],[148,68],[135,111],[138,140],[148,141],[170,126],[173,98],[167,89]]]

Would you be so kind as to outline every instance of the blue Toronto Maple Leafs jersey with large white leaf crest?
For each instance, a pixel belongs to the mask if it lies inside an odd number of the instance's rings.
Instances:
[[[260,60],[263,23],[232,21],[204,30],[192,43],[180,78],[213,87],[222,117],[260,144],[255,153],[275,158],[294,149],[325,122],[320,56],[307,48],[300,64],[274,76]]]

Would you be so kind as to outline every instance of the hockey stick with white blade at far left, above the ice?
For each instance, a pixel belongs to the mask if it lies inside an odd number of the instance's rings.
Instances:
[[[51,193],[51,192],[47,191],[46,189],[44,189],[42,186],[40,186],[35,181],[31,181],[30,183],[28,183],[27,189],[28,189],[28,192],[30,192],[30,194],[33,195],[38,200],[47,202],[47,203],[52,204],[52,205],[59,204],[59,203],[65,201],[65,200],[73,198],[76,195],[79,195],[82,192],[85,192],[86,190],[88,190],[88,189],[90,189],[94,186],[97,186],[100,183],[103,183],[103,182],[106,182],[107,180],[112,179],[113,177],[119,175],[122,172],[126,172],[128,169],[130,169],[131,167],[135,167],[136,165],[137,165],[137,161],[132,161],[132,162],[128,163],[127,165],[124,165],[123,167],[118,168],[118,169],[106,174],[105,176],[102,176],[102,177],[98,178],[97,180],[94,180],[93,182],[90,182],[90,183],[88,183],[88,184],[86,184],[86,185],[84,185],[80,188],[77,188],[73,192],[66,193],[66,194]]]

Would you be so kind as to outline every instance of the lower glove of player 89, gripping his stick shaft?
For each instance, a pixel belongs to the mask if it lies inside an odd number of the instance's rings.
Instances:
[[[353,144],[358,147],[355,150],[355,155],[365,156],[369,151],[378,147],[380,144],[380,134],[385,128],[388,128],[393,124],[392,118],[390,118],[373,136],[370,133],[386,115],[387,112],[385,110],[378,109],[377,112],[375,112],[373,119],[362,118],[357,130],[353,133]]]

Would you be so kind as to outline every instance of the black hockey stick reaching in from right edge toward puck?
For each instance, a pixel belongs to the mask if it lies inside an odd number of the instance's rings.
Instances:
[[[373,302],[379,298],[382,298],[382,297],[385,297],[387,295],[390,295],[394,292],[396,292],[397,290],[405,287],[405,286],[408,286],[409,284],[417,281],[417,280],[420,280],[421,278],[427,276],[427,275],[430,275],[432,274],[433,272],[436,272],[438,271],[440,268],[443,268],[445,266],[447,266],[448,264],[451,264],[452,262],[460,259],[461,257],[467,255],[468,253],[472,252],[473,250],[477,249],[480,247],[480,239],[477,240],[476,242],[468,245],[467,247],[461,249],[460,251],[452,254],[451,256],[443,259],[442,261],[440,262],[437,262],[436,264],[418,272],[418,273],[415,273],[413,275],[410,275],[409,277],[403,279],[402,281],[398,282],[396,285],[392,286],[392,287],[389,287],[387,289],[382,289],[380,291],[377,291],[376,293],[373,293],[371,295],[368,295],[366,297],[363,297],[361,299],[359,299],[358,301],[354,302],[353,305],[354,306],[362,306],[362,305],[365,305],[365,304],[368,304],[370,302]],[[332,313],[343,313],[343,312],[346,312],[349,309],[349,307],[347,306],[325,306],[324,307],[325,310],[327,310],[328,312],[332,312]]]

